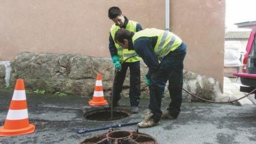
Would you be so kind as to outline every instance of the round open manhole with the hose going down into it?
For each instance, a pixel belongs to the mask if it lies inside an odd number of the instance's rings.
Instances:
[[[124,109],[113,109],[113,118],[111,119],[110,109],[98,109],[84,113],[83,118],[87,120],[110,121],[126,118],[130,115],[131,113]]]

